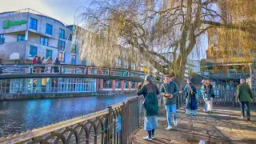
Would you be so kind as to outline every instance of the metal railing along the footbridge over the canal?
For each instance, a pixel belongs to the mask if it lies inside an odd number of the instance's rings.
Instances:
[[[95,66],[72,66],[54,64],[35,64],[35,65],[0,65],[0,76],[8,74],[83,74],[85,77],[90,75],[144,78],[145,73],[134,70],[118,70],[112,68],[101,68]],[[82,75],[81,75],[82,76]],[[160,76],[161,77],[161,76]],[[4,78],[2,78],[4,79]]]

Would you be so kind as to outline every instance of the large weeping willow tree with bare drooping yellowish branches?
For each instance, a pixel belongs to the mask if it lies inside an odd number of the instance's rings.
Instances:
[[[122,58],[137,65],[148,63],[182,82],[188,57],[203,55],[202,34],[207,31],[226,38],[217,39],[222,49],[247,48],[243,38],[250,42],[256,30],[254,4],[254,0],[94,0],[76,17],[82,30],[74,38],[81,41],[80,57],[97,66],[114,66]],[[230,38],[232,42],[226,41]]]

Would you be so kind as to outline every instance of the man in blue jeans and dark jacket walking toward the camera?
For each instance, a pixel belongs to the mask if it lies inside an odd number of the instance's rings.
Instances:
[[[170,80],[170,76],[165,76],[165,83],[161,86],[161,94],[163,96],[164,105],[166,106],[166,117],[168,127],[166,130],[173,129],[171,125],[170,112],[173,114],[174,126],[178,126],[177,122],[177,95],[178,87],[175,82]]]

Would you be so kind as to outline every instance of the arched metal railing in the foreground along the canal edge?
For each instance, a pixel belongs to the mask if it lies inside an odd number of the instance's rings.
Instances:
[[[1,138],[0,143],[128,143],[143,122],[142,97],[109,106],[94,114],[73,118],[26,133]]]

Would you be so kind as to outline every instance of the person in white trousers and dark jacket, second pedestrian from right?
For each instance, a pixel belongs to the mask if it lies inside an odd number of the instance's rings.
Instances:
[[[201,93],[205,102],[204,111],[213,114],[214,88],[210,84],[210,81],[202,80]]]

